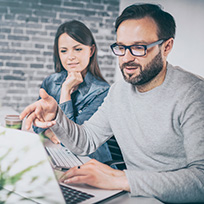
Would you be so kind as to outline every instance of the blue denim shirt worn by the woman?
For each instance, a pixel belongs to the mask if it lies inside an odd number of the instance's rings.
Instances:
[[[41,88],[51,95],[59,104],[61,87],[66,80],[67,71],[63,70],[54,73],[44,79]],[[109,90],[109,84],[96,79],[90,72],[87,72],[84,81],[78,89],[71,94],[71,100],[59,104],[65,115],[81,125],[88,120],[102,104]],[[36,133],[44,132],[46,129],[33,126]],[[96,152],[89,155],[100,162],[112,160],[107,143],[99,147]]]

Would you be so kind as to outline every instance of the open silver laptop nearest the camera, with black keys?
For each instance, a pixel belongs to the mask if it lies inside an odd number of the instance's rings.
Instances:
[[[86,184],[59,184],[57,176],[61,174],[53,170],[39,135],[0,126],[0,203],[20,203],[10,200],[13,194],[22,202],[100,203],[124,193]],[[84,200],[79,198],[81,194]]]

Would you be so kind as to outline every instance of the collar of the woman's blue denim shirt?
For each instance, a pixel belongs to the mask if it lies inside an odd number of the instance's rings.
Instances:
[[[54,82],[56,85],[62,86],[66,78],[67,78],[67,71],[62,70],[61,76],[57,78],[56,80],[54,80]],[[82,94],[83,96],[87,94],[89,89],[91,88],[91,84],[93,81],[92,79],[93,79],[93,75],[91,74],[91,72],[88,71],[85,75],[84,81],[81,84],[79,84],[79,87],[76,91],[79,91],[80,94]]]

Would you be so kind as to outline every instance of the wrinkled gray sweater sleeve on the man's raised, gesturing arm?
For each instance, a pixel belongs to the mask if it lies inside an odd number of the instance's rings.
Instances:
[[[88,155],[113,136],[106,116],[107,98],[89,121],[79,125],[69,120],[58,108],[56,125],[51,130],[59,140],[77,155]]]

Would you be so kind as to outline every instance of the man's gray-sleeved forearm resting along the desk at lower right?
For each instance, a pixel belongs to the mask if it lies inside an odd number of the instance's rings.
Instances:
[[[169,172],[126,170],[133,196],[156,197],[168,203],[204,202],[204,172],[184,168]]]

